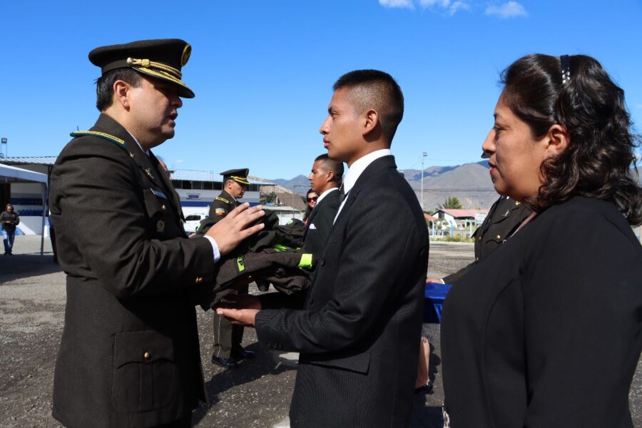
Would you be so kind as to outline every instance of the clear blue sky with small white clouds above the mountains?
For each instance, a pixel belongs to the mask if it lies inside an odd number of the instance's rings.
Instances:
[[[400,169],[479,161],[498,74],[529,53],[588,54],[642,121],[639,0],[14,1],[0,0],[0,136],[9,156],[55,156],[98,111],[87,54],[177,37],[193,46],[196,98],[156,148],[173,168],[250,168],[292,178],[324,153],[332,83],[379,68],[402,86]]]

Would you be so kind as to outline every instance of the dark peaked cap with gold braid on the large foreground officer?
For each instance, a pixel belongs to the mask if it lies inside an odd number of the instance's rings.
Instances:
[[[89,52],[89,61],[103,74],[116,68],[133,68],[146,76],[160,78],[178,86],[178,95],[194,98],[193,91],[180,79],[180,68],[190,59],[192,46],[180,39],[133,41],[101,46]]]

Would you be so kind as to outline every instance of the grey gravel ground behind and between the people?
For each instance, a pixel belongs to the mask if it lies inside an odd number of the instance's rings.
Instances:
[[[54,363],[63,328],[64,274],[40,238],[18,236],[13,257],[0,255],[0,427],[60,427],[51,417]],[[429,275],[441,277],[473,258],[472,244],[432,243]],[[255,290],[256,291],[256,290]],[[203,373],[209,403],[192,417],[194,427],[287,428],[297,355],[263,350],[253,329],[243,343],[257,352],[235,370],[210,363],[212,314],[198,310]],[[439,325],[426,325],[433,338],[430,394],[414,397],[412,427],[441,427],[443,389],[440,376]],[[596,373],[608,370],[601,367]],[[608,393],[608,392],[605,392]],[[642,366],[631,386],[631,413],[642,428]]]

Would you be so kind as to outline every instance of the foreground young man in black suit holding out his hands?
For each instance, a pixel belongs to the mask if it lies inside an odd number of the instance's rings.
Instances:
[[[403,95],[375,70],[347,73],[334,89],[320,132],[328,156],[350,170],[326,243],[332,251],[323,253],[303,309],[271,309],[248,298],[240,301],[245,309],[218,312],[254,325],[270,349],[300,352],[292,427],[406,427],[428,233],[389,150]]]

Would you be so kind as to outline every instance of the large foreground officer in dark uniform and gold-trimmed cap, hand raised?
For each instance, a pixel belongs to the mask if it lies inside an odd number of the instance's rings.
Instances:
[[[66,272],[53,416],[66,427],[190,427],[205,400],[193,292],[215,263],[263,228],[243,205],[202,238],[185,237],[178,195],[151,148],[174,136],[193,98],[179,39],[89,54],[101,115],[71,134],[51,173],[51,216]]]

